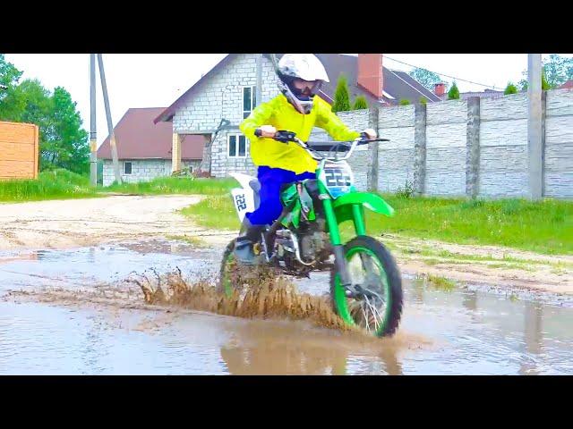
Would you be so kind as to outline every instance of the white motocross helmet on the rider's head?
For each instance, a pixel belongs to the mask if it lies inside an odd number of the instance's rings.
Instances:
[[[329,75],[316,56],[312,54],[286,54],[278,62],[278,88],[301,114],[310,114],[312,98],[319,92],[322,82],[329,82]],[[312,82],[311,95],[306,96],[293,85],[293,80]]]

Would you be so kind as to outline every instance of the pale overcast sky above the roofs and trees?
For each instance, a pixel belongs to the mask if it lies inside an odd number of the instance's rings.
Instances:
[[[171,105],[225,55],[103,55],[114,126],[130,107]],[[78,104],[83,127],[90,130],[90,55],[6,54],[5,58],[19,70],[24,71],[21,79],[38,79],[50,90],[58,86],[66,88]],[[458,78],[458,88],[461,92],[481,91],[486,87],[459,79],[471,80],[489,88],[505,88],[509,80],[514,83],[521,80],[521,72],[527,68],[526,54],[385,54],[383,62],[386,67],[410,71],[412,67],[393,60],[454,76]],[[99,145],[107,137],[107,122],[98,71],[97,79]]]

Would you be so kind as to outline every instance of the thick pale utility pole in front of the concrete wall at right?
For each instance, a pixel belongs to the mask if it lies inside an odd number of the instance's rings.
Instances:
[[[527,54],[527,152],[529,198],[541,199],[543,190],[541,54]]]

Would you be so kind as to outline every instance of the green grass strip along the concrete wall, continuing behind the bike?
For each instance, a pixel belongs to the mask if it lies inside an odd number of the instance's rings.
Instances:
[[[397,233],[406,237],[505,246],[550,255],[573,254],[571,201],[383,197],[396,209],[396,214],[388,218],[366,210],[366,228],[375,237],[382,232]],[[184,214],[212,228],[236,230],[239,226],[229,196],[218,197],[213,202],[205,200],[188,207]],[[343,224],[342,232],[343,238],[352,235],[351,223]]]

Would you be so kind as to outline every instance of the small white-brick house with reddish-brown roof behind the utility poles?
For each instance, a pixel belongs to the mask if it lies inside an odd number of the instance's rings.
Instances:
[[[132,108],[115,126],[117,157],[125,182],[150,181],[167,176],[173,171],[171,122],[155,124],[153,120],[165,107]],[[196,169],[201,164],[205,138],[201,134],[182,135],[184,143],[181,165]],[[98,159],[103,160],[103,185],[115,181],[109,136],[98,148]]]

